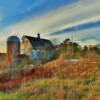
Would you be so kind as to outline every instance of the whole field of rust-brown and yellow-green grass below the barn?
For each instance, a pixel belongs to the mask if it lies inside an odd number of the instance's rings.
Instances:
[[[0,75],[0,100],[100,100],[99,57],[77,62],[60,57],[10,73]]]

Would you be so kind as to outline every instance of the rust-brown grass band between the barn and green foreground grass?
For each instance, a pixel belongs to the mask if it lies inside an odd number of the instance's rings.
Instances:
[[[95,61],[98,62],[96,63]],[[31,71],[21,72],[14,79],[5,74],[5,77],[0,77],[0,90],[14,89],[32,79],[47,79],[52,77],[61,79],[86,79],[94,75],[99,66],[99,58],[94,60],[87,57],[87,59],[81,58],[78,62],[71,62],[61,57],[47,64],[42,64]]]

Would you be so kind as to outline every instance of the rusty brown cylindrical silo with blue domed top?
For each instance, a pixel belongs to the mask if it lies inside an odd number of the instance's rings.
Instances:
[[[20,55],[20,39],[17,36],[10,36],[7,39],[7,64],[17,64]]]

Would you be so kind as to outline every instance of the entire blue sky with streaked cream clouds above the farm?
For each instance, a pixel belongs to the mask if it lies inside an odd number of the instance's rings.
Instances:
[[[82,45],[100,41],[100,0],[0,0],[0,52],[11,35]]]

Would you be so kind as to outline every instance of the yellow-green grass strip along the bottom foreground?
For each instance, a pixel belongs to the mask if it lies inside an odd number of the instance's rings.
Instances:
[[[1,92],[0,100],[99,100],[100,77],[95,78],[33,80],[23,83],[15,92]]]

